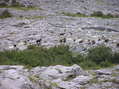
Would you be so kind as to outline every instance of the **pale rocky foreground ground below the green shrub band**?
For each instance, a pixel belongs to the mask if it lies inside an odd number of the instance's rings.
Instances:
[[[0,89],[119,89],[119,65],[84,71],[80,66],[27,69],[0,66]]]

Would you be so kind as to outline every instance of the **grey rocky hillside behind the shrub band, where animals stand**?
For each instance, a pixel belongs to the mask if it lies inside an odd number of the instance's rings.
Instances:
[[[1,16],[4,10],[11,16],[0,19],[0,49],[67,44],[83,52],[106,44],[117,51],[118,4],[119,0],[1,0]]]

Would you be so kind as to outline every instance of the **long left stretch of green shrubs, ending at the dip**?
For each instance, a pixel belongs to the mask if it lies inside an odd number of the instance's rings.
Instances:
[[[49,49],[30,46],[23,51],[0,52],[0,64],[19,64],[27,66],[71,65],[72,52],[68,46],[57,46]]]

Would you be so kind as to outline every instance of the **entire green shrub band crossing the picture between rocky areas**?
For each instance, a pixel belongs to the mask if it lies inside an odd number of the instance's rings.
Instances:
[[[87,54],[74,56],[68,46],[60,45],[49,49],[29,46],[23,51],[0,52],[0,65],[25,65],[29,67],[78,64],[85,69],[109,67],[119,64],[119,53],[105,46],[91,48]]]

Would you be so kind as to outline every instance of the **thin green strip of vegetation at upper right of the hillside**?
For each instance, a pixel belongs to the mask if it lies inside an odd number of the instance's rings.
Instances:
[[[62,12],[62,14],[71,17],[95,17],[95,18],[104,18],[104,19],[119,18],[119,16],[114,16],[112,14],[103,14],[101,11],[93,12],[91,15],[85,15],[82,13],[66,13],[66,12]]]

